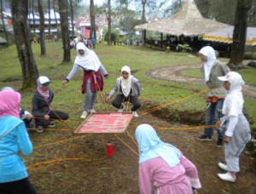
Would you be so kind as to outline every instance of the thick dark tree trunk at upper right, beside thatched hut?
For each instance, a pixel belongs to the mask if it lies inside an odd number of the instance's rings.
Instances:
[[[233,43],[229,62],[231,69],[236,69],[243,60],[247,37],[248,12],[251,6],[252,0],[237,0]]]

